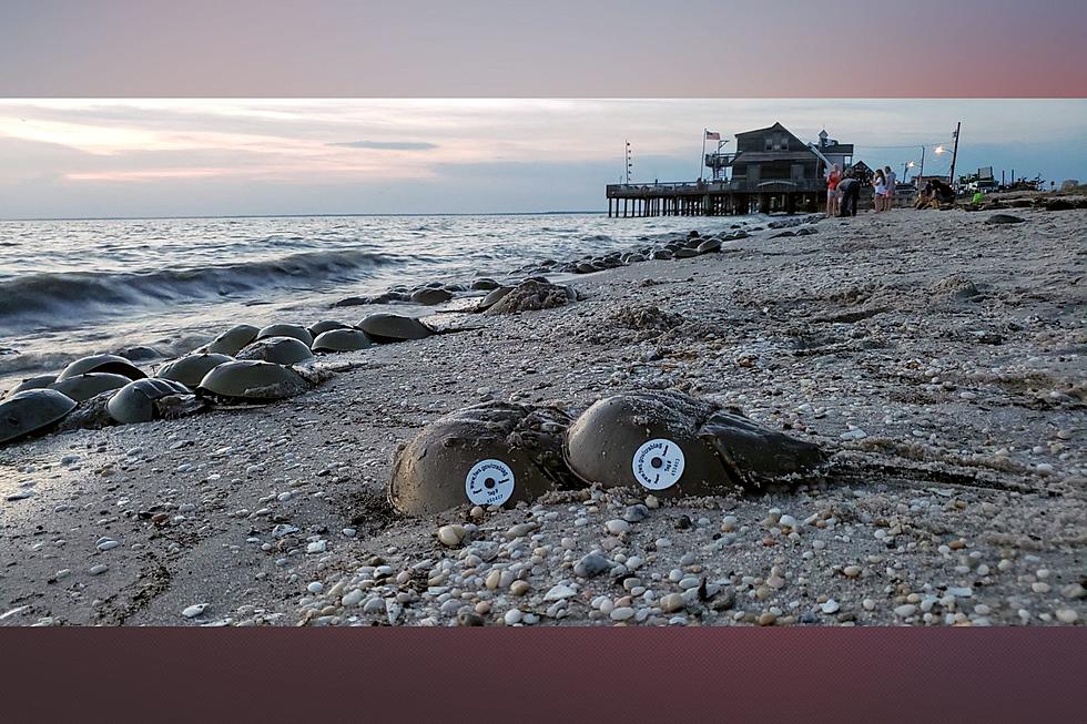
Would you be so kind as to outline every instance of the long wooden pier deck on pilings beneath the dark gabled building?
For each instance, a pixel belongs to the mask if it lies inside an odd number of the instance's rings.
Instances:
[[[826,203],[822,179],[610,184],[608,217],[813,213]]]

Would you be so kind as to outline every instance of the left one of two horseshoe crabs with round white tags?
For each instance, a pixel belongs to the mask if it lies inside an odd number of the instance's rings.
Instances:
[[[396,510],[424,516],[457,506],[535,500],[571,482],[555,408],[482,402],[441,417],[403,447],[386,488]]]

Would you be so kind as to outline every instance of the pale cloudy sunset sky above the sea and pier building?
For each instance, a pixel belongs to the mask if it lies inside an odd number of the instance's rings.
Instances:
[[[775,121],[900,175],[962,121],[959,173],[1087,180],[1087,100],[12,99],[0,218],[597,211],[626,141],[633,181],[688,181],[703,129]]]

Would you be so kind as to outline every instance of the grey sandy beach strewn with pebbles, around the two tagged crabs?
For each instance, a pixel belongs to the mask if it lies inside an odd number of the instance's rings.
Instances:
[[[0,448],[0,624],[1081,625],[1087,211],[1009,213],[763,230],[579,276],[559,308],[440,315],[477,329],[337,355],[283,402]],[[397,446],[440,415],[641,389],[734,405],[831,472],[386,502]]]

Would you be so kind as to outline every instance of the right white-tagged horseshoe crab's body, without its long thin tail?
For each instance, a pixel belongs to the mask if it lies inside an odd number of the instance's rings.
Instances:
[[[569,427],[563,456],[575,476],[656,494],[715,494],[812,473],[817,446],[762,427],[734,410],[670,391],[599,400]]]

